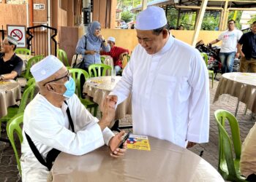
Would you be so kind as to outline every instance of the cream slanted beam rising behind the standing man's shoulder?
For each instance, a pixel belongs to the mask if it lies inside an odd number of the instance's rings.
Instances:
[[[197,38],[199,36],[199,31],[203,22],[203,15],[206,12],[206,5],[207,5],[208,0],[202,0],[202,4],[200,7],[200,12],[199,12],[199,16],[197,18],[197,23],[195,25],[195,31],[194,31],[194,35],[193,35],[193,39],[192,39],[192,46],[195,47],[195,44],[197,43]]]

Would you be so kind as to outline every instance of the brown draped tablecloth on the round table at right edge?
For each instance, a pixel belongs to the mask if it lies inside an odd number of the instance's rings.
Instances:
[[[238,102],[245,103],[247,108],[256,113],[256,74],[252,73],[227,73],[222,74],[219,81],[214,102],[222,94],[238,98]]]

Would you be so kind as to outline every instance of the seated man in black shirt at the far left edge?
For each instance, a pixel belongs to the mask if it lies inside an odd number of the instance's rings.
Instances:
[[[18,41],[12,36],[7,36],[1,42],[0,52],[0,80],[15,79],[21,73],[23,60],[16,54]]]

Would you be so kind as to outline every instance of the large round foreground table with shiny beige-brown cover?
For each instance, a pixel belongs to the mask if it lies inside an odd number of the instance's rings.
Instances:
[[[61,152],[50,171],[54,182],[65,181],[216,181],[222,176],[197,154],[168,141],[148,138],[150,151],[127,149],[110,157],[108,146],[82,156]]]

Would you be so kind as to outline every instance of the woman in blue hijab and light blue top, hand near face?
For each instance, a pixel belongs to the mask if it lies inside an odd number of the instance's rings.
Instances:
[[[91,64],[101,63],[100,50],[110,52],[110,45],[101,34],[100,23],[94,21],[89,24],[86,35],[79,39],[75,52],[83,55],[85,68],[88,70]]]

